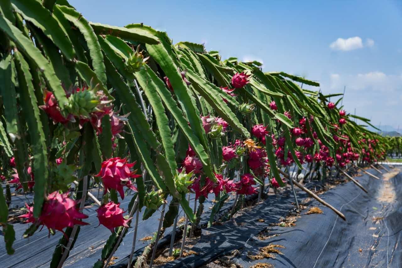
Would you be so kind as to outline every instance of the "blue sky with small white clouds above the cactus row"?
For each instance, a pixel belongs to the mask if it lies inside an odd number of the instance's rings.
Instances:
[[[224,59],[318,80],[324,93],[346,86],[348,112],[402,129],[402,1],[69,2],[88,20],[144,23],[174,43],[205,43]]]

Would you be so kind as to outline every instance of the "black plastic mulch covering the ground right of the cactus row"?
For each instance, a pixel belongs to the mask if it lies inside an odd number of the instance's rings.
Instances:
[[[375,170],[368,170],[380,176]],[[380,176],[381,177],[381,176]],[[345,214],[347,221],[340,219],[330,209],[317,201],[309,206],[320,207],[323,214],[306,215],[301,211],[294,227],[270,226],[294,207],[291,196],[278,195],[252,207],[246,214],[224,225],[215,225],[202,230],[201,239],[192,248],[199,255],[167,263],[164,267],[198,267],[220,256],[240,250],[232,259],[243,267],[258,262],[267,262],[279,267],[402,267],[402,174],[388,181],[389,188],[381,189],[387,182],[382,177],[375,180],[368,175],[356,177],[369,191],[363,192],[352,182],[338,185],[320,195]],[[313,187],[314,188],[314,187]],[[394,200],[388,203],[379,200],[394,190]],[[307,197],[297,190],[299,200]],[[257,219],[264,219],[260,223]],[[256,235],[269,227],[267,235],[279,234],[265,241]],[[275,259],[252,261],[248,254],[258,254],[258,249],[269,244],[279,244],[283,255]]]

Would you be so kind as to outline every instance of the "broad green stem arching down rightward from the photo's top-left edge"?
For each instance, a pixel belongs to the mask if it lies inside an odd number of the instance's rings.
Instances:
[[[16,12],[41,29],[59,47],[66,59],[71,61],[75,57],[74,47],[67,33],[63,31],[64,28],[40,2],[37,0],[11,0],[11,3]]]

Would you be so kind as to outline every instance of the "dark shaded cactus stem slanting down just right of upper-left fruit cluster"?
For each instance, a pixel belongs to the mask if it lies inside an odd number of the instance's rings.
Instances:
[[[134,121],[137,128],[141,130],[144,134],[144,140],[153,148],[158,149],[160,142],[156,138],[155,133],[152,131],[150,124],[148,123],[141,107],[135,100],[135,96],[131,91],[131,88],[124,82],[121,75],[117,72],[116,68],[110,62],[110,60],[105,56],[105,63],[107,68],[107,74],[109,82],[112,84],[113,88],[116,90],[119,98],[125,103],[127,109],[133,117],[130,117]]]

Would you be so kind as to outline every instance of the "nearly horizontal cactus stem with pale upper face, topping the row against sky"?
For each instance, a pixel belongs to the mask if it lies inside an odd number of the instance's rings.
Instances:
[[[143,30],[141,28],[128,29],[125,27],[117,27],[92,22],[90,22],[90,25],[94,29],[95,33],[98,35],[114,35],[117,37],[121,37],[129,42],[140,42],[151,45],[156,45],[159,43],[158,37],[156,37],[149,31]]]

